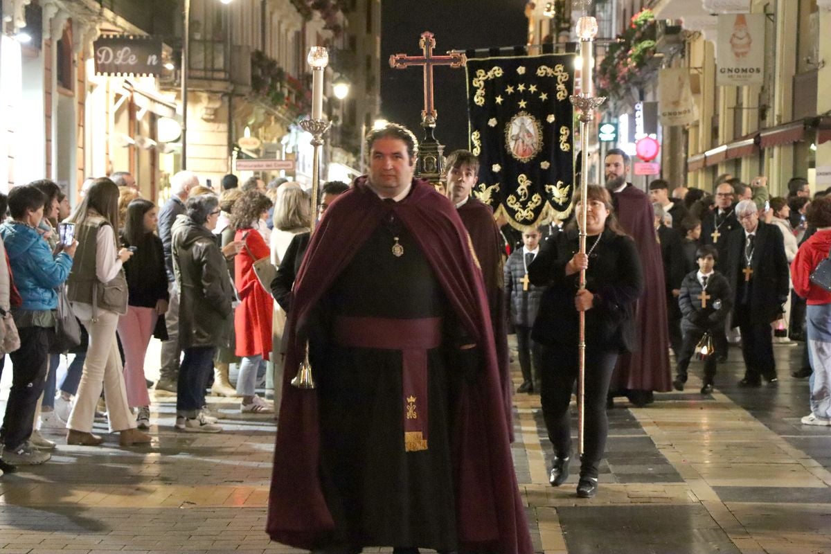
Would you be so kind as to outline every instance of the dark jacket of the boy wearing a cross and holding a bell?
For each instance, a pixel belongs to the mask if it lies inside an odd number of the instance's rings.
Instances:
[[[730,283],[720,272],[712,272],[707,278],[706,306],[701,306],[701,282],[698,281],[698,270],[684,277],[681,283],[681,294],[678,296],[678,306],[684,319],[681,326],[693,327],[701,331],[715,331],[724,326],[727,314],[733,309],[733,292]]]

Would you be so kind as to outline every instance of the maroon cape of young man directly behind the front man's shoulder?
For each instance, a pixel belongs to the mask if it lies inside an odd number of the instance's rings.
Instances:
[[[505,416],[508,418],[508,432],[514,442],[513,393],[511,383],[510,357],[508,353],[508,315],[505,311],[503,253],[499,239],[499,227],[494,221],[494,210],[472,196],[459,208],[459,217],[470,233],[470,242],[479,259],[484,277],[484,292],[490,306],[490,320],[494,325],[496,362],[499,365],[499,380],[504,396]]]

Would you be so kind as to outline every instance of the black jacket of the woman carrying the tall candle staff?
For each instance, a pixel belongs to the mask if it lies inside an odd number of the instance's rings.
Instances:
[[[528,268],[532,284],[548,287],[531,336],[543,345],[574,346],[578,342],[579,315],[574,296],[579,273],[566,276],[565,267],[578,252],[578,235],[571,229],[560,237],[541,243]],[[632,321],[635,302],[643,289],[641,258],[632,238],[608,229],[600,237],[586,271],[586,288],[595,295],[593,308],[586,312],[586,342],[589,347],[632,351],[636,343]],[[587,250],[595,240],[588,238]]]

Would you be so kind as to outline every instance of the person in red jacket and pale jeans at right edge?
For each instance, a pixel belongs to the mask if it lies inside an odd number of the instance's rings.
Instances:
[[[831,197],[811,202],[805,217],[817,230],[802,243],[790,265],[794,291],[808,304],[811,413],[802,423],[831,426]]]

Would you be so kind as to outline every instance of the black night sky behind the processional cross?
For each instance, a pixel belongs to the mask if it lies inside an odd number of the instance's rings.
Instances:
[[[383,0],[381,2],[381,116],[409,127],[421,139],[424,105],[421,67],[392,69],[391,54],[420,55],[420,34],[435,35],[435,53],[510,47],[528,40],[525,0]],[[435,67],[435,138],[445,154],[467,148],[465,69]]]

